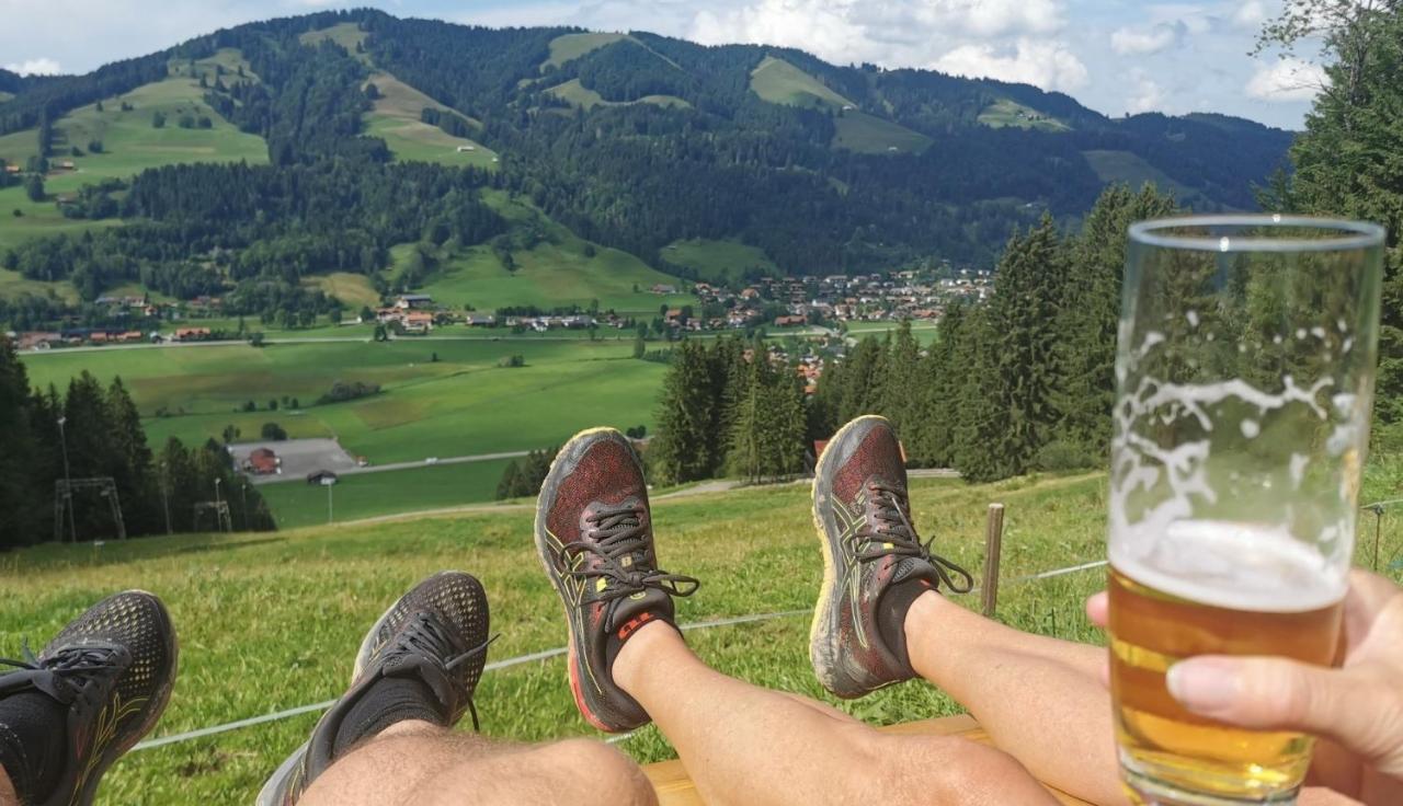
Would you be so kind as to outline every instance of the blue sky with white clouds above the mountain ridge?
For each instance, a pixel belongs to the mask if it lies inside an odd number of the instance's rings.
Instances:
[[[359,0],[398,17],[641,29],[800,48],[1066,93],[1107,115],[1223,112],[1299,129],[1319,66],[1249,56],[1282,0]],[[84,73],[216,28],[335,0],[0,0],[0,64]]]

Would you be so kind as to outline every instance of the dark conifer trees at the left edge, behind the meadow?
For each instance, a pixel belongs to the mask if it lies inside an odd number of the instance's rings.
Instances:
[[[60,394],[31,388],[14,343],[0,336],[0,549],[55,535],[55,482],[109,477],[128,535],[213,531],[198,503],[219,495],[236,530],[271,530],[272,514],[258,489],[234,472],[224,446],[188,447],[170,439],[153,451],[121,378],[105,388],[83,371]],[[66,454],[66,456],[65,456]],[[216,484],[219,492],[216,492]],[[66,519],[65,519],[66,520]],[[108,503],[97,491],[73,493],[79,540],[116,535]],[[65,524],[65,534],[69,526]]]

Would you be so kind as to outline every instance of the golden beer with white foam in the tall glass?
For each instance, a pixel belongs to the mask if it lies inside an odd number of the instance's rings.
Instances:
[[[1113,556],[1111,691],[1121,764],[1138,791],[1132,799],[1294,802],[1313,740],[1190,713],[1170,697],[1164,673],[1197,655],[1266,655],[1329,666],[1338,648],[1344,590],[1296,547],[1274,551],[1282,548],[1281,538],[1266,540],[1247,528],[1243,540],[1243,527],[1202,521],[1177,531],[1188,538],[1160,548],[1169,548],[1179,571],[1186,562],[1201,563],[1201,573],[1176,580],[1152,566],[1117,568]],[[1218,551],[1207,549],[1209,544]],[[1239,586],[1225,585],[1235,573],[1225,562],[1242,572]]]

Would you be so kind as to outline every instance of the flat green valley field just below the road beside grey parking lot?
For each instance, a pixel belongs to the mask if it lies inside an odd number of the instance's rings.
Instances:
[[[546,446],[542,446],[546,447]],[[405,512],[448,509],[492,500],[511,460],[438,464],[414,470],[342,475],[331,491],[335,520],[361,520]],[[258,488],[278,519],[278,528],[327,523],[327,491],[300,482]]]

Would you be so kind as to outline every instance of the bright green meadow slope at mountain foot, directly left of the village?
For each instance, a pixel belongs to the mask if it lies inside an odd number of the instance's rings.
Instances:
[[[536,304],[542,307],[579,304],[599,300],[603,310],[657,315],[661,304],[686,304],[690,296],[657,296],[648,292],[654,285],[676,286],[676,278],[648,268],[638,258],[595,247],[595,257],[585,257],[588,243],[568,228],[540,216],[525,200],[513,200],[504,192],[484,191],[484,198],[516,226],[539,217],[549,240],[532,250],[516,251],[516,271],[508,272],[488,247],[473,247],[453,257],[425,285],[424,290],[435,301],[480,310],[504,306]],[[640,293],[633,293],[637,285]]]

